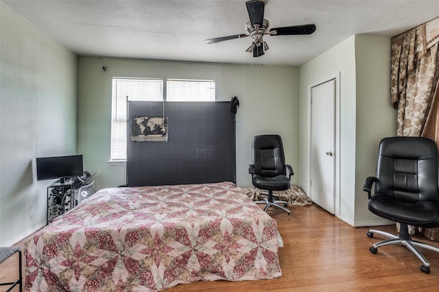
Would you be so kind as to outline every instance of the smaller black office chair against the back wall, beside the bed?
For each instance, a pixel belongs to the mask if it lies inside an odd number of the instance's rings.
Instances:
[[[289,215],[287,202],[273,200],[273,191],[287,190],[294,174],[291,165],[285,165],[281,136],[260,135],[253,138],[252,164],[248,166],[248,173],[252,175],[253,186],[268,191],[267,199],[255,203],[265,204],[265,212],[275,206]]]

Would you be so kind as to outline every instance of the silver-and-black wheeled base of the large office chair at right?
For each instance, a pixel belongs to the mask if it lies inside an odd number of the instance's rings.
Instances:
[[[412,241],[412,239],[410,239],[410,236],[408,235],[408,232],[407,231],[404,232],[404,229],[407,229],[407,225],[401,224],[400,236],[396,236],[392,233],[384,232],[381,230],[370,229],[369,232],[367,233],[367,235],[370,238],[373,238],[373,234],[375,233],[390,238],[390,239],[385,239],[383,241],[379,241],[378,243],[374,243],[372,247],[369,248],[370,252],[372,252],[372,254],[376,254],[378,251],[378,247],[384,245],[401,244],[407,247],[407,249],[410,250],[410,252],[412,252],[415,256],[417,256],[420,259],[421,262],[423,262],[423,265],[420,266],[420,270],[423,271],[424,273],[430,273],[430,264],[428,260],[425,258],[425,256],[423,256],[423,254],[421,254],[416,249],[416,247],[423,247],[427,250],[432,250],[434,252],[439,252],[439,248],[434,247],[432,245],[428,245],[427,243],[421,243],[420,241]]]

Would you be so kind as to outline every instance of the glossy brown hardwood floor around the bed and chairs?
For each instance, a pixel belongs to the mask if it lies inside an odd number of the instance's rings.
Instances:
[[[420,260],[405,247],[389,245],[371,254],[382,238],[366,236],[368,228],[353,228],[316,205],[289,207],[291,215],[269,210],[284,241],[279,249],[283,276],[244,282],[193,282],[167,289],[176,291],[438,291],[439,254],[420,249],[431,273],[420,271]],[[366,207],[365,207],[366,208]],[[375,229],[396,232],[395,226]],[[439,247],[425,237],[414,236]],[[19,243],[23,245],[24,241]],[[18,275],[16,258],[0,266],[0,282]],[[24,267],[24,265],[23,265]],[[12,280],[12,278],[11,278]],[[5,291],[0,287],[0,291]],[[18,287],[12,291],[19,291]]]

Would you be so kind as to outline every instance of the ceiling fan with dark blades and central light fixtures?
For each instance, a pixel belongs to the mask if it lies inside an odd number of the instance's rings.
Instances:
[[[245,38],[250,36],[252,38],[252,45],[246,51],[253,52],[253,57],[259,57],[268,50],[267,42],[263,40],[263,36],[268,34],[270,36],[293,36],[298,34],[312,34],[316,31],[315,24],[307,25],[293,25],[285,27],[276,27],[270,29],[270,22],[263,18],[263,10],[265,3],[259,0],[250,0],[246,2],[248,16],[250,21],[246,23],[246,34],[235,34],[233,36],[222,36],[221,38],[209,38],[204,40],[208,44],[214,42],[222,42],[223,40],[233,40],[235,38]]]

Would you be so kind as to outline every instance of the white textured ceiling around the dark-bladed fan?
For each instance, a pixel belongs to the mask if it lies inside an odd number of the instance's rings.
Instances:
[[[271,27],[316,23],[309,36],[265,36],[253,58],[241,0],[3,0],[80,56],[299,66],[354,34],[395,36],[439,16],[439,0],[267,0]]]

